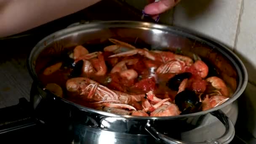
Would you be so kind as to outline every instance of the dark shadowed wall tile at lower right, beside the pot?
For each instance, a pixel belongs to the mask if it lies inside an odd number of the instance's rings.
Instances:
[[[256,86],[248,83],[243,95],[238,98],[238,103],[237,125],[245,127],[256,137]]]

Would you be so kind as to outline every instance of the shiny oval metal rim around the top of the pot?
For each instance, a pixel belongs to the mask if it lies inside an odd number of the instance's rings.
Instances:
[[[38,54],[41,53],[41,51],[47,46],[47,45],[45,45],[45,42],[47,42],[49,40],[50,41],[52,40],[51,42],[53,42],[53,40],[55,38],[63,37],[63,36],[66,36],[67,34],[70,35],[72,33],[77,32],[76,30],[82,30],[82,29],[85,30],[85,29],[90,29],[92,27],[95,28],[97,26],[101,26],[101,27],[103,26],[104,28],[107,28],[107,27],[133,28],[132,26],[136,26],[136,27],[144,27],[144,28],[148,28],[148,29],[160,29],[160,30],[165,30],[166,32],[171,32],[171,33],[174,33],[179,36],[186,37],[186,38],[194,39],[197,41],[203,41],[204,43],[206,43],[208,45],[214,45],[215,48],[218,49],[218,51],[220,51],[220,53],[222,53],[224,56],[228,57],[228,59],[230,61],[232,61],[235,69],[237,70],[237,75],[239,77],[239,83],[237,85],[237,89],[230,99],[228,99],[226,102],[224,102],[223,104],[221,104],[217,107],[208,109],[206,111],[195,112],[192,114],[168,116],[168,117],[139,117],[139,116],[131,116],[131,115],[116,115],[116,114],[112,114],[110,112],[104,112],[101,110],[96,110],[96,109],[82,106],[80,104],[76,104],[72,101],[68,101],[67,99],[60,98],[60,97],[54,95],[47,89],[43,90],[45,88],[45,86],[38,79],[37,74],[35,72],[35,68],[32,67],[32,63],[33,63],[32,58],[34,57],[35,53],[37,53],[37,56],[38,56]],[[43,48],[41,48],[42,47],[41,45],[44,45]],[[40,51],[40,52],[38,52],[38,51]],[[44,37],[42,40],[40,40],[34,46],[34,48],[30,52],[29,57],[27,59],[27,68],[29,70],[30,76],[37,83],[39,88],[41,88],[46,93],[51,93],[50,95],[53,96],[53,99],[60,99],[61,101],[64,101],[67,104],[71,104],[85,112],[92,112],[92,113],[109,116],[109,117],[122,117],[125,119],[133,119],[133,120],[134,119],[137,119],[137,120],[169,120],[169,119],[180,119],[180,118],[185,118],[185,117],[194,117],[194,116],[198,116],[198,115],[205,115],[205,114],[208,114],[209,112],[213,112],[218,109],[222,109],[222,108],[226,107],[227,105],[231,104],[239,96],[242,95],[242,93],[245,90],[247,83],[248,83],[248,74],[247,74],[247,70],[246,70],[243,62],[240,60],[240,58],[238,58],[238,56],[233,51],[231,51],[225,45],[218,43],[215,40],[211,40],[210,38],[206,38],[205,36],[202,37],[199,34],[189,31],[187,29],[185,30],[182,28],[173,27],[173,26],[169,26],[169,25],[165,25],[165,24],[155,24],[155,23],[144,22],[144,21],[96,21],[96,22],[91,22],[88,24],[81,24],[81,25],[77,25],[74,27],[68,27],[66,29],[61,29],[59,31],[53,32],[51,35]]]

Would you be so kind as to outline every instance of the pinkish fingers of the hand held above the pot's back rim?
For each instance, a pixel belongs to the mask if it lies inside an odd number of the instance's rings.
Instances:
[[[160,0],[156,3],[150,3],[144,8],[144,12],[149,15],[157,15],[173,8],[179,1],[181,0]]]

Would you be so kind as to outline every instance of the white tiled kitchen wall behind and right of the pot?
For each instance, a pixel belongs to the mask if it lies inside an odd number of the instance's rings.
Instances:
[[[147,0],[126,0],[142,10]],[[245,64],[243,123],[256,137],[256,0],[182,0],[160,22],[199,32],[227,45]],[[246,114],[246,115],[245,115]],[[241,118],[240,118],[241,119]]]

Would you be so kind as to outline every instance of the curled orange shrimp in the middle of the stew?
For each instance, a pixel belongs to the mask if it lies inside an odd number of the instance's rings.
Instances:
[[[134,80],[136,77],[138,77],[138,73],[134,69],[128,69],[126,67],[127,65],[133,65],[136,64],[139,61],[139,59],[125,59],[123,61],[120,61],[115,65],[115,67],[112,68],[110,73],[118,72],[120,73],[120,76],[123,78],[126,78],[127,80]]]

